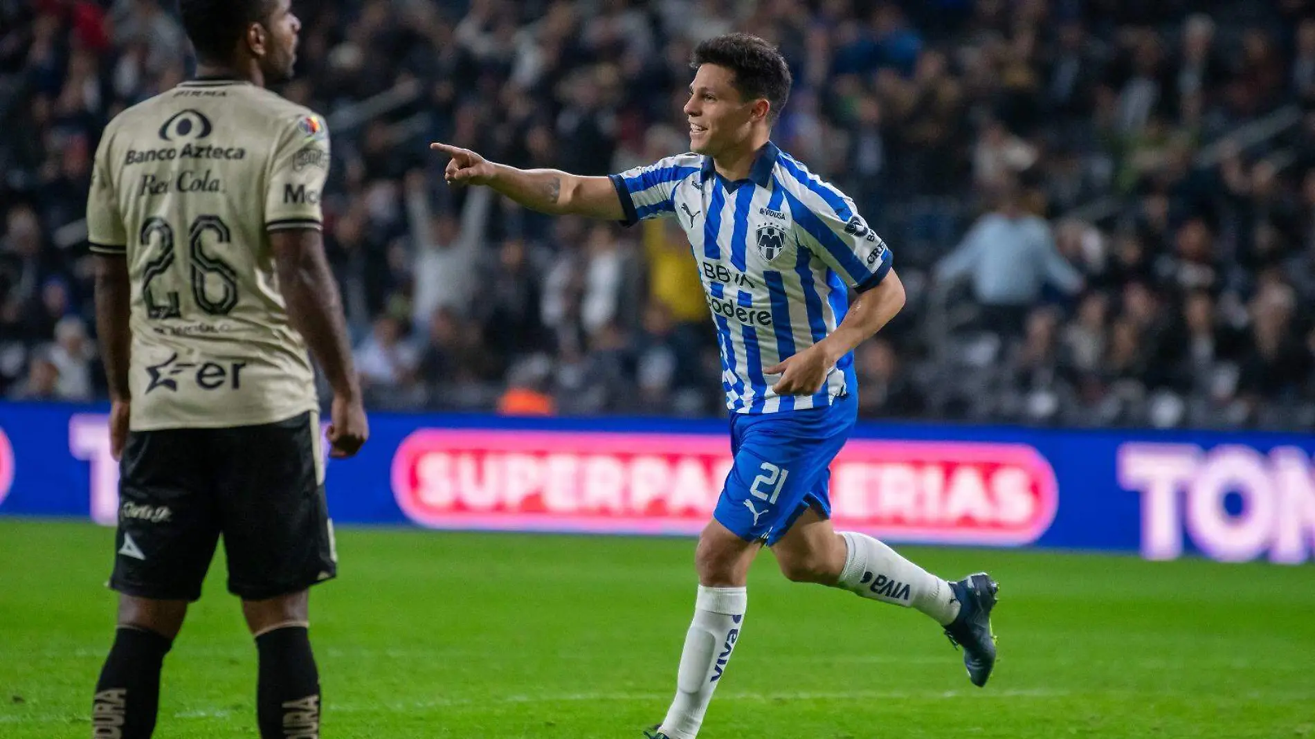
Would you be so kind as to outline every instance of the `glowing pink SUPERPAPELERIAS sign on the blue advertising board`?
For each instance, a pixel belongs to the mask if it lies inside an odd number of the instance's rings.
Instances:
[[[419,430],[393,458],[392,488],[422,526],[694,534],[729,446],[711,434]],[[855,439],[831,469],[836,525],[881,536],[1018,546],[1057,508],[1055,473],[1027,446]]]

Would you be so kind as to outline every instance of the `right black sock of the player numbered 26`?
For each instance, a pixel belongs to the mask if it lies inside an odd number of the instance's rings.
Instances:
[[[256,636],[255,646],[260,739],[320,739],[320,671],[306,627],[275,629]]]

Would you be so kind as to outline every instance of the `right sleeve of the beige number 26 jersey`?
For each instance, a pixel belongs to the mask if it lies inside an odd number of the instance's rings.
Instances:
[[[287,122],[270,164],[267,231],[323,227],[320,199],[329,179],[329,129],[313,113]]]

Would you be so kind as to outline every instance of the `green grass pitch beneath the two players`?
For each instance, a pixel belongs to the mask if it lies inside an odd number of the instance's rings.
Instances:
[[[0,523],[0,736],[89,735],[113,534]],[[684,539],[343,530],[312,597],[323,735],[629,738],[693,605]],[[701,738],[1315,736],[1308,567],[906,547],[1001,583],[985,689],[922,615],[786,583],[764,554]],[[160,738],[255,736],[255,651],[216,560],[166,660]]]

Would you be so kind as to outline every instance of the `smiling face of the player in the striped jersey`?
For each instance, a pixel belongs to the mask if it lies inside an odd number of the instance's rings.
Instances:
[[[689,149],[718,156],[742,146],[753,124],[767,118],[771,104],[759,97],[744,100],[735,88],[735,72],[719,64],[701,64],[689,85],[685,116],[689,120]]]

